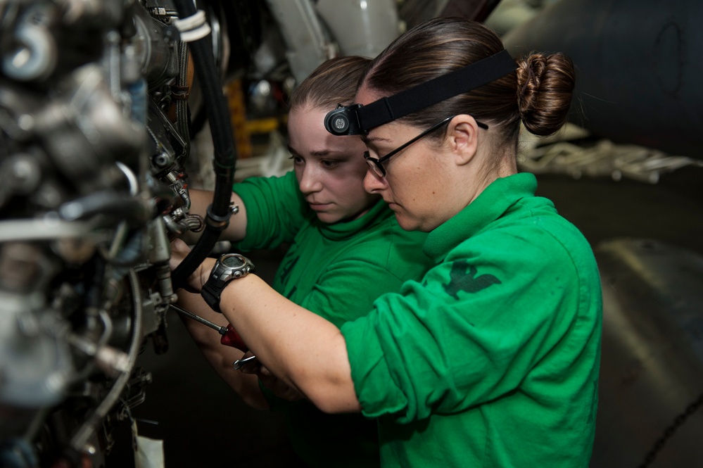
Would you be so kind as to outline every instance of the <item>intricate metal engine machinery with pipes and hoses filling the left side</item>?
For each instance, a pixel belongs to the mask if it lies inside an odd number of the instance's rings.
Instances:
[[[230,215],[222,81],[302,79],[397,34],[392,0],[346,8],[356,32],[333,41],[324,0],[0,0],[0,466],[103,464],[151,379],[137,355],[167,349],[174,291]],[[205,119],[203,220],[186,166]],[[170,241],[201,229],[171,272]]]

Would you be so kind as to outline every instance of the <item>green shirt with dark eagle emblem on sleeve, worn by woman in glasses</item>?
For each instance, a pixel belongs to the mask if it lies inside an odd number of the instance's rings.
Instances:
[[[602,295],[536,179],[498,179],[424,244],[437,265],[342,327],[383,467],[588,467]]]

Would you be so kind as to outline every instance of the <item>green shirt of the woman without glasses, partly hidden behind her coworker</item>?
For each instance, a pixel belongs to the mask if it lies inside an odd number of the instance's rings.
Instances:
[[[422,253],[426,234],[403,231],[383,201],[357,220],[325,224],[303,199],[293,172],[247,179],[233,189],[247,210],[246,238],[237,248],[290,244],[272,286],[337,327],[366,315],[376,298],[421,278],[431,265]],[[374,420],[326,415],[307,400],[282,407],[293,447],[310,466],[379,465]]]

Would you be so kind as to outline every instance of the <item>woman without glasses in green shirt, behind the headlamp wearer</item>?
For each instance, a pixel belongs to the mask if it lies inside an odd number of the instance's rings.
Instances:
[[[335,137],[322,125],[329,110],[353,101],[356,84],[369,63],[361,57],[335,58],[297,87],[288,120],[294,170],[283,177],[253,177],[234,184],[232,201],[239,213],[221,236],[236,241],[234,246],[241,251],[289,244],[273,289],[336,327],[367,314],[374,299],[398,291],[407,279],[421,278],[430,265],[426,255],[417,253],[425,234],[400,229],[381,197],[365,191],[367,165],[361,158],[365,145],[360,137]],[[191,199],[191,212],[202,215],[212,194],[191,190]],[[222,316],[199,295],[181,292],[179,304],[222,322]],[[281,386],[265,368],[255,367],[258,375],[235,371],[232,362],[242,357],[239,350],[220,345],[208,327],[188,319],[184,323],[205,357],[243,400],[285,412],[289,438],[305,464],[379,465],[372,419],[326,415]],[[281,396],[296,401],[276,398],[273,390],[279,387]]]

